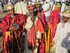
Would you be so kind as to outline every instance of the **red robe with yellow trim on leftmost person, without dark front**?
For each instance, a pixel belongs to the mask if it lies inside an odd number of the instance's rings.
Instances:
[[[4,19],[3,19],[3,53],[7,53],[7,52],[11,52],[9,48],[7,48],[7,46],[9,46],[11,44],[11,42],[13,41],[13,32],[11,33],[11,31],[9,30],[10,27],[12,27],[12,23],[17,23],[18,25],[21,24],[25,24],[25,16],[22,14],[14,14],[13,19],[11,17],[10,14],[7,14]],[[24,25],[23,24],[23,25]],[[23,27],[23,26],[22,26]],[[20,29],[16,32],[17,38],[19,38],[19,34],[20,34]],[[18,39],[17,39],[18,40]],[[8,42],[9,41],[9,42]],[[7,45],[7,42],[9,45]],[[20,43],[20,41],[19,41]],[[14,46],[14,45],[13,45]],[[8,49],[8,51],[7,51]]]

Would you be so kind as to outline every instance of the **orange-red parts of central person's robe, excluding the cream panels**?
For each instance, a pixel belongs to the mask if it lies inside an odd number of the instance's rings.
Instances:
[[[37,17],[38,18],[38,17]],[[29,19],[29,17],[28,17]],[[27,20],[28,20],[27,19]],[[30,21],[29,21],[30,22]],[[28,23],[29,23],[28,22]],[[30,24],[30,23],[29,23]],[[29,25],[28,24],[28,25]],[[28,26],[29,27],[29,26]],[[27,28],[28,28],[27,27]],[[26,29],[27,29],[26,28]],[[32,27],[29,29],[29,34],[28,34],[28,42],[29,42],[29,45],[31,45],[32,47],[36,46],[36,32],[40,31],[41,33],[44,33],[44,28],[43,28],[43,25],[42,25],[42,22],[41,20],[38,18],[38,20],[35,20],[35,28],[34,28],[34,25],[32,25]],[[44,46],[43,46],[44,47]],[[44,48],[40,48],[40,49],[44,49]]]

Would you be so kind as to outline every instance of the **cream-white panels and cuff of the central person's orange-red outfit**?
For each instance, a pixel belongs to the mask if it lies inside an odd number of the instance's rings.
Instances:
[[[38,17],[36,17],[35,22],[34,22],[35,27],[36,27],[37,21],[38,21]],[[26,25],[25,25],[25,29],[27,29],[27,31],[29,32],[32,26],[33,26],[33,22],[31,20],[31,17],[28,17]],[[42,34],[42,32],[40,32],[39,30],[36,31],[36,38],[41,39],[41,34]],[[37,45],[37,47],[35,47],[34,53],[37,53],[37,51],[38,51],[38,42],[36,43],[36,45]]]

